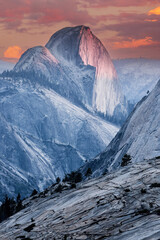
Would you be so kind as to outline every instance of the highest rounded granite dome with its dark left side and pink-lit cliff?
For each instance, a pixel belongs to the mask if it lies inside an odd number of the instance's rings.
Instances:
[[[64,65],[95,68],[92,92],[94,111],[113,116],[119,108],[126,114],[125,100],[111,58],[90,28],[64,28],[52,35],[46,47]]]

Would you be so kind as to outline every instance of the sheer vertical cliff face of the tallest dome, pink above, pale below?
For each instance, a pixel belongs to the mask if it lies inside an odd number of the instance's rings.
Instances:
[[[104,115],[112,116],[121,98],[115,68],[107,50],[92,34],[90,29],[82,27],[80,33],[79,55],[85,65],[91,65],[96,68],[93,108]]]

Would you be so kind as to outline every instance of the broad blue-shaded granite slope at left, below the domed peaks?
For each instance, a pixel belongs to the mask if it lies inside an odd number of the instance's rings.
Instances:
[[[28,79],[1,78],[0,95],[0,199],[44,189],[102,151],[118,131]]]

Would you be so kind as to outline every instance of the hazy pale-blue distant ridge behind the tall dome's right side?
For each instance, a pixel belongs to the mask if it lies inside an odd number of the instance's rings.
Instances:
[[[113,61],[123,94],[137,103],[160,79],[160,60],[120,59]]]

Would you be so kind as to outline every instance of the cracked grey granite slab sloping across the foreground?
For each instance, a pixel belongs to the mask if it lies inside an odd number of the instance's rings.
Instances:
[[[56,186],[23,201],[0,224],[0,239],[160,239],[160,159],[129,164],[62,193]]]

